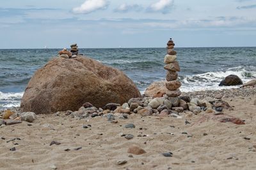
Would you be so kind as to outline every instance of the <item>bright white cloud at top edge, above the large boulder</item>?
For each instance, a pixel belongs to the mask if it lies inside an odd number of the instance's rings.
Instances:
[[[86,0],[81,6],[73,8],[74,13],[92,13],[97,10],[104,10],[108,8],[106,0]]]

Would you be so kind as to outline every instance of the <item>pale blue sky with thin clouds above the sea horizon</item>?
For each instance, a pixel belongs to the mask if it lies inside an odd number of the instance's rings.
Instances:
[[[8,0],[0,48],[256,46],[256,0]]]

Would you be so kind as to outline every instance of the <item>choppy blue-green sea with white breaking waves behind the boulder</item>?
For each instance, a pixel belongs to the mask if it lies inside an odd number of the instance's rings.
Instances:
[[[0,50],[0,110],[19,106],[36,69],[61,49]],[[256,47],[175,48],[180,64],[182,92],[214,90],[225,76],[236,74],[244,82],[256,78]],[[124,71],[141,93],[153,81],[164,80],[165,48],[79,49],[80,53]],[[238,87],[237,87],[238,88]]]

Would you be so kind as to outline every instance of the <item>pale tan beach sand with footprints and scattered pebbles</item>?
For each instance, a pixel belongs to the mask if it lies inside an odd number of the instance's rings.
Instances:
[[[256,169],[255,99],[255,94],[225,98],[234,110],[223,113],[245,120],[245,125],[198,123],[205,112],[183,118],[134,114],[117,119],[117,124],[101,117],[38,115],[31,126],[22,122],[0,129],[0,169]],[[126,129],[129,123],[136,127]],[[125,139],[122,133],[134,138]],[[13,138],[20,140],[6,143]],[[50,146],[51,141],[61,144]],[[131,145],[147,153],[131,157]],[[16,150],[10,151],[12,147]],[[77,147],[82,148],[74,150]],[[173,157],[164,157],[163,152],[172,152]],[[118,160],[127,163],[118,165]]]

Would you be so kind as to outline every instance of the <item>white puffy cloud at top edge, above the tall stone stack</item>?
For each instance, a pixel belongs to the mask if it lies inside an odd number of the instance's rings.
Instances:
[[[158,2],[151,4],[148,7],[148,11],[160,11],[162,13],[168,13],[168,11],[170,11],[172,8],[173,3],[174,0],[159,0]]]

